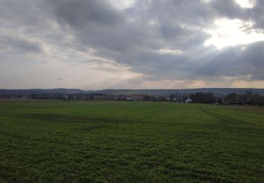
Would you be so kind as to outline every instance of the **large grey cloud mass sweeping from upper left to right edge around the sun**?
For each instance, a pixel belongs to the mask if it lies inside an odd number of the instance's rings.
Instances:
[[[256,53],[258,49],[251,49],[261,46],[260,43],[246,46],[244,50],[214,49],[213,55],[199,58],[211,49],[203,46],[210,36],[202,28],[212,27],[215,18],[220,17],[253,18],[251,11],[253,9],[243,9],[230,0],[213,0],[209,4],[180,0],[137,1],[125,12],[105,1],[55,1],[56,17],[73,28],[81,46],[92,46],[98,56],[129,65],[131,70],[156,80],[244,74],[264,79],[256,72],[262,68],[258,57],[261,53]],[[149,24],[152,20],[154,25]],[[156,52],[164,48],[180,49],[184,53],[169,55]],[[199,53],[195,49],[204,51]]]

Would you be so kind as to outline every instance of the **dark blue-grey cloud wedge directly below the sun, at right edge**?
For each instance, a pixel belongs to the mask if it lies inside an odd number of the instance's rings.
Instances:
[[[220,51],[218,56],[197,65],[194,72],[208,76],[251,75],[264,80],[264,42],[256,42]]]

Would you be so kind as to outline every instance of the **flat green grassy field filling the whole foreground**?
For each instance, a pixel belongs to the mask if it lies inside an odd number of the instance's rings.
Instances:
[[[264,182],[264,108],[1,101],[0,182]]]

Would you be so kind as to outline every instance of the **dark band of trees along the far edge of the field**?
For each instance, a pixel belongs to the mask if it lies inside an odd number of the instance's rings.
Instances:
[[[121,95],[122,96],[122,95]],[[62,99],[62,100],[122,100],[124,96],[118,97],[111,94],[30,94],[30,95],[13,95],[13,94],[1,94],[1,99],[11,98],[23,98],[27,99]],[[213,93],[196,92],[194,94],[170,94],[170,96],[149,96],[141,95],[137,96],[137,101],[174,101],[184,102],[188,98],[194,103],[239,103],[244,105],[264,105],[264,95],[253,94],[253,92],[246,92],[244,94],[230,93],[227,95],[215,95]]]

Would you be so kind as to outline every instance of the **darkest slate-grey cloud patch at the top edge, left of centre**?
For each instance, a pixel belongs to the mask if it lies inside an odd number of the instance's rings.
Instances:
[[[72,27],[115,25],[122,20],[118,11],[108,1],[56,0],[51,1],[58,20]]]

